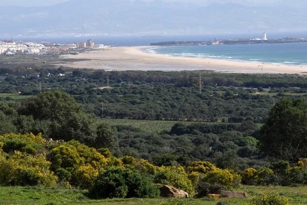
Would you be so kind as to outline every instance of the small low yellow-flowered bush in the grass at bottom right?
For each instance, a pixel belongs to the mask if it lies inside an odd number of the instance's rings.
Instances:
[[[254,197],[250,205],[289,205],[289,200],[278,193],[271,193]]]

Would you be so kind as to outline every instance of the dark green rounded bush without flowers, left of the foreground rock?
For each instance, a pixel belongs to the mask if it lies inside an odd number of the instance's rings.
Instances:
[[[101,172],[89,189],[92,198],[158,197],[158,187],[135,170],[110,168]]]

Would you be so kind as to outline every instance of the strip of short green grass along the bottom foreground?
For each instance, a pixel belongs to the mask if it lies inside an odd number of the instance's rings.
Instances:
[[[254,196],[263,193],[278,192],[280,195],[287,197],[290,204],[301,205],[307,204],[307,186],[300,187],[254,187],[243,186],[236,191],[244,191],[248,193],[248,198],[221,198],[220,200],[228,201],[230,204],[246,205]],[[45,205],[58,205],[58,204],[104,204],[104,205],[117,205],[117,204],[134,204],[134,205],[158,205],[162,202],[169,202],[172,204],[178,202],[181,205],[213,205],[216,204],[218,199],[201,198],[201,199],[167,199],[167,198],[154,198],[154,199],[89,199],[85,195],[85,191],[77,189],[49,189],[38,187],[0,187],[0,204],[45,204]]]

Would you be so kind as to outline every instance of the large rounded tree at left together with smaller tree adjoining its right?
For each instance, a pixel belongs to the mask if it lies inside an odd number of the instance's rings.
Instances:
[[[115,129],[99,122],[93,114],[86,113],[81,105],[67,93],[42,92],[24,101],[19,114],[21,115],[18,128],[21,131],[42,132],[44,136],[56,140],[75,139],[97,148],[113,150],[118,147]],[[36,128],[34,124],[42,127]],[[44,125],[48,125],[48,129],[45,129]]]

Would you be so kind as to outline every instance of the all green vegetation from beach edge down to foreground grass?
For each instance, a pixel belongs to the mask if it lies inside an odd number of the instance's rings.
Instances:
[[[1,203],[306,202],[305,76],[31,66],[0,64],[0,185],[16,186]],[[218,189],[256,198],[207,197]]]

